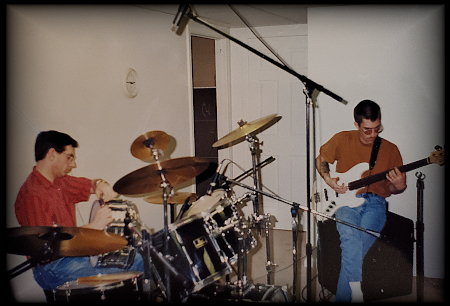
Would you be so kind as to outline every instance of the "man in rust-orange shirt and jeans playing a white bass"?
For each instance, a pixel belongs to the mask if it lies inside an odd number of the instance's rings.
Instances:
[[[383,131],[378,104],[363,100],[355,107],[353,114],[357,130],[339,132],[326,142],[316,158],[317,170],[327,185],[337,194],[343,194],[348,186],[341,184],[338,176],[331,177],[329,164],[336,162],[336,172],[345,173],[359,163],[371,162],[372,169],[364,172],[362,177],[393,169],[386,174],[386,180],[357,192],[357,197],[365,200],[362,205],[353,208],[343,206],[336,211],[336,218],[340,220],[379,232],[386,221],[385,198],[406,189],[406,174],[397,168],[403,164],[397,146],[378,137]],[[378,147],[377,150],[375,147]],[[341,223],[336,223],[336,228],[342,255],[335,301],[362,302],[362,263],[375,237]]]

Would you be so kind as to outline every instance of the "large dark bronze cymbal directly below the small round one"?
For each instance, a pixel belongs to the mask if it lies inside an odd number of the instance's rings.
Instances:
[[[113,186],[114,191],[122,195],[137,195],[161,188],[161,174],[164,173],[170,186],[174,187],[196,177],[208,168],[210,162],[202,157],[180,157],[153,163],[137,169],[121,179]]]

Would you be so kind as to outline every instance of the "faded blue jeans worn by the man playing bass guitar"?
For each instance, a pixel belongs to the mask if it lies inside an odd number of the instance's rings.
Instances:
[[[344,206],[336,211],[336,218],[365,229],[380,232],[386,222],[386,200],[376,194],[361,194],[365,202],[350,208]],[[352,291],[349,282],[362,280],[364,256],[376,237],[345,224],[336,223],[341,239],[341,272],[336,290],[336,302],[351,302]]]

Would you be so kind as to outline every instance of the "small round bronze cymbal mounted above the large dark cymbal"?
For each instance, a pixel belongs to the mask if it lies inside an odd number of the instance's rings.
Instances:
[[[131,154],[140,159],[147,160],[153,157],[150,145],[155,149],[164,151],[170,143],[170,137],[163,131],[151,131],[142,134],[131,144]]]

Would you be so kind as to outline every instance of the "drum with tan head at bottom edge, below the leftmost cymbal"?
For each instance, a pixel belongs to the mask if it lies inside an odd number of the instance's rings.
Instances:
[[[142,272],[120,272],[81,277],[56,288],[57,302],[139,301],[142,296]]]

